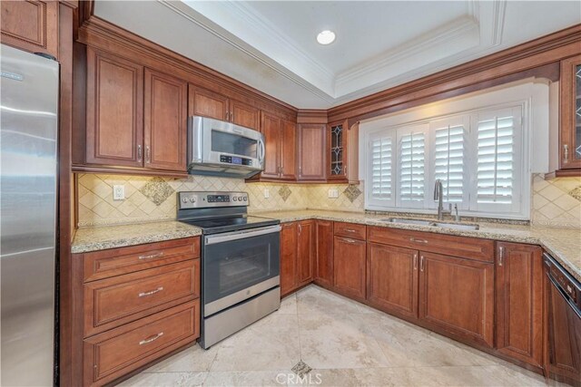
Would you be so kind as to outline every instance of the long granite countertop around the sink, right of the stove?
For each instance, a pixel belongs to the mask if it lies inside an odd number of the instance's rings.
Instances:
[[[394,224],[381,221],[389,218],[386,215],[371,215],[362,212],[342,212],[326,210],[297,210],[255,212],[252,215],[277,218],[282,223],[304,219],[324,219],[368,226],[393,227],[409,230],[428,231],[438,234],[457,235],[460,237],[480,237],[507,242],[540,245],[553,256],[566,270],[581,281],[581,229],[551,228],[535,226],[517,226],[503,223],[478,222],[478,230],[458,230],[443,227]]]

